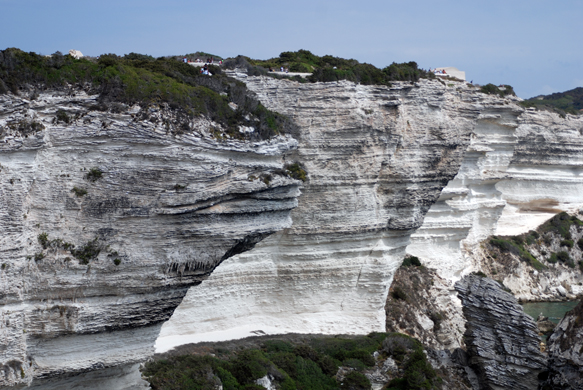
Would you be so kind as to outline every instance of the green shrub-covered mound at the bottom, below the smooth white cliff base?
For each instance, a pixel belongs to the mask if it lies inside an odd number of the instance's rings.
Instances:
[[[153,390],[260,390],[260,378],[282,390],[369,390],[367,374],[392,359],[384,389],[441,388],[421,343],[403,334],[266,337],[194,346],[150,361],[142,373]]]

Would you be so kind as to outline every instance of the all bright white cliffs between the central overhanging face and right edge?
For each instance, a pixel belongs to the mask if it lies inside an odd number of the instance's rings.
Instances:
[[[480,115],[460,172],[407,248],[452,281],[481,268],[487,237],[583,207],[583,119],[508,103]]]

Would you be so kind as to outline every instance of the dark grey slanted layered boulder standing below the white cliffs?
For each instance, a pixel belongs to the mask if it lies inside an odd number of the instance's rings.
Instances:
[[[483,389],[535,390],[546,366],[534,320],[516,298],[489,278],[468,275],[455,284],[466,318],[469,364]]]

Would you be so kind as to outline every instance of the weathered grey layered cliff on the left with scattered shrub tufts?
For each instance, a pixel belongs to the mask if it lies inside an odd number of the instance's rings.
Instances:
[[[96,103],[0,95],[0,386],[143,361],[190,286],[291,224],[292,138]]]

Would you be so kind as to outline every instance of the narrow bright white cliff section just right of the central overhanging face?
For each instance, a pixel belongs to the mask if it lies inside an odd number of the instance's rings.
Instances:
[[[514,155],[517,118],[523,112],[509,103],[491,99],[482,107],[458,174],[443,189],[407,248],[452,281],[472,270],[468,252],[495,232],[506,205],[496,184],[506,177]]]

